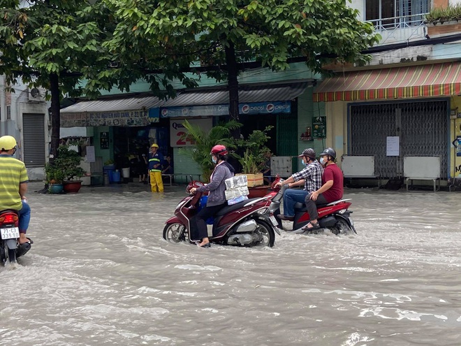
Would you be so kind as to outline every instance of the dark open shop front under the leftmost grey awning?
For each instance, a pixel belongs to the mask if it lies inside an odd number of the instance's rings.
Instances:
[[[61,128],[66,129],[66,134],[86,128],[89,150],[82,150],[82,165],[91,173],[92,184],[101,183],[103,173],[112,171],[119,171],[120,181],[137,179],[138,158],[142,153],[148,154],[150,143],[159,143],[166,154],[168,131],[158,115],[149,112],[158,102],[154,96],[124,97],[82,101],[61,110]],[[87,151],[91,155],[85,154]]]

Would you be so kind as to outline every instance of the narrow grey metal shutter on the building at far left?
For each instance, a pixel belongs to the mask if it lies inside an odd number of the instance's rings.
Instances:
[[[24,164],[26,167],[45,166],[45,115],[22,115]]]

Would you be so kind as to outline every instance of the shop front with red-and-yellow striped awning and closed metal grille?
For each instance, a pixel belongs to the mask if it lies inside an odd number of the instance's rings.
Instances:
[[[342,73],[322,82],[314,101],[325,102],[327,144],[338,156],[374,157],[382,179],[405,178],[405,157],[439,157],[449,181],[461,164],[460,89],[461,63],[426,64]]]

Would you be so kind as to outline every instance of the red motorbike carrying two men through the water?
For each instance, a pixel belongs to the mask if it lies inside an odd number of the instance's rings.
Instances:
[[[283,181],[283,180],[281,180]],[[270,210],[272,215],[280,214],[280,203],[283,199],[284,192],[288,187],[286,185],[279,188],[278,193],[272,197],[272,203]],[[321,204],[317,206],[319,212],[319,225],[320,229],[315,229],[312,231],[302,231],[302,227],[309,223],[309,213],[305,203],[295,203],[295,219],[293,220],[293,229],[292,233],[319,233],[324,229],[328,229],[331,233],[335,235],[353,233],[357,234],[356,228],[353,224],[353,219],[351,217],[352,211],[349,210],[351,206],[351,199],[341,199],[339,201],[333,201],[328,204]],[[278,227],[283,229],[281,226],[281,219],[277,217]]]

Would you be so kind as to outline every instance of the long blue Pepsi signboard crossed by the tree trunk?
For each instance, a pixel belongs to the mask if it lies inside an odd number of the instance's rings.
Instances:
[[[291,101],[240,103],[239,113],[247,115],[291,113]],[[228,104],[160,108],[161,117],[210,117],[220,115],[229,115]]]

